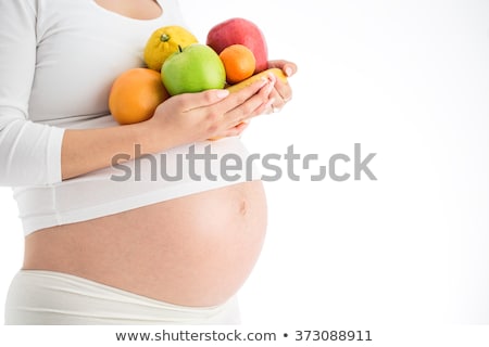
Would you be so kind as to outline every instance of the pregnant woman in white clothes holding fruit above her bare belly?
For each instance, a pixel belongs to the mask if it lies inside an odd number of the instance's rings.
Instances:
[[[175,0],[0,2],[0,184],[13,188],[25,233],[7,324],[239,322],[236,293],[266,229],[262,183],[244,167],[225,180],[218,159],[189,172],[178,158],[244,158],[243,120],[283,107],[291,90],[271,77],[181,94],[147,121],[116,125],[110,87],[142,66],[164,25],[183,25]],[[124,180],[118,154],[131,156]],[[179,180],[152,175],[178,165]]]

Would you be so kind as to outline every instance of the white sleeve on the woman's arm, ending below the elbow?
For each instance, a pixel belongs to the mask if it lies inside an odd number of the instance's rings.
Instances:
[[[0,1],[0,185],[61,181],[64,129],[35,124],[28,115],[36,68],[36,3]]]

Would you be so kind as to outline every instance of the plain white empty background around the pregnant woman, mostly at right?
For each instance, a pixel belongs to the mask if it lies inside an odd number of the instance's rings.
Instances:
[[[297,163],[299,182],[265,185],[268,235],[240,294],[243,323],[489,324],[489,2],[180,2],[201,40],[247,17],[271,59],[299,66],[293,100],[247,130],[250,151],[319,156]],[[377,181],[311,181],[354,143],[376,153]],[[0,207],[4,297],[22,231],[4,188]]]

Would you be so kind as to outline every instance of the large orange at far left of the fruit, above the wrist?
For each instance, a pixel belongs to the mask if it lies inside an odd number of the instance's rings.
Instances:
[[[159,72],[143,67],[131,68],[113,82],[109,110],[118,124],[134,124],[151,118],[158,105],[168,98]]]

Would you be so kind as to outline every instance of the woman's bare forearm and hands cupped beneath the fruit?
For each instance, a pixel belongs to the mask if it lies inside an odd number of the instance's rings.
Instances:
[[[271,67],[293,75],[296,65],[286,61],[271,62]],[[238,136],[247,120],[280,108],[290,100],[290,86],[269,77],[229,94],[225,90],[208,90],[172,97],[158,106],[147,121],[96,129],[67,129],[63,137],[61,174],[63,180],[113,165],[114,155],[135,157],[134,144],[141,153],[156,153],[211,138]]]

